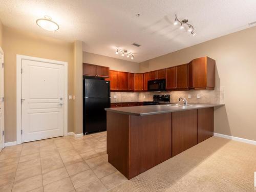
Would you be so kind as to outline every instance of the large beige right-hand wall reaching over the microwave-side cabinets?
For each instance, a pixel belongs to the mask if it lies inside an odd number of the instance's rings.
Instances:
[[[224,107],[215,110],[215,132],[256,140],[255,34],[256,27],[253,27],[209,40],[141,62],[140,71],[175,66],[206,55],[214,58],[216,85],[217,89],[224,90],[225,103]]]

